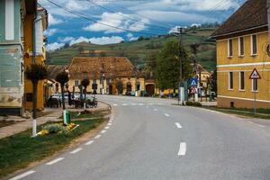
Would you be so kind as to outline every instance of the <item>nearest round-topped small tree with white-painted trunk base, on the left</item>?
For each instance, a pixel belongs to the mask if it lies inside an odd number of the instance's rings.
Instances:
[[[38,103],[38,84],[40,80],[46,79],[48,76],[47,67],[41,64],[31,64],[26,67],[25,76],[31,80],[32,84],[32,119],[33,119],[33,136],[36,136],[36,119],[37,119],[37,103]]]

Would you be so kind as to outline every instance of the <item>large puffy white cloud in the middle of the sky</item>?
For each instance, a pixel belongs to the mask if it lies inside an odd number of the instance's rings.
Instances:
[[[128,18],[125,18],[128,17]],[[147,23],[149,21],[144,18],[140,18],[138,22],[131,21],[131,19],[136,19],[134,15],[131,14],[122,14],[122,13],[103,13],[101,15],[101,20],[98,21],[97,23],[92,23],[84,28],[85,31],[104,31],[105,33],[116,33],[116,32],[122,32],[124,30],[129,30],[129,31],[143,31],[147,29]],[[137,18],[138,19],[138,18]],[[116,29],[113,27],[121,28],[121,29]]]

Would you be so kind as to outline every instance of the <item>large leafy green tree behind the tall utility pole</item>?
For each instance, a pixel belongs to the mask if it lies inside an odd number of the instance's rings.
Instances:
[[[167,41],[166,45],[157,55],[157,86],[161,89],[177,89],[180,76],[179,42]],[[192,67],[188,54],[184,49],[183,78],[187,80],[191,75]]]

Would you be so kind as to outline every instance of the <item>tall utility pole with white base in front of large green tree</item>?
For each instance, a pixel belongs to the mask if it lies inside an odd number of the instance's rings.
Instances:
[[[178,85],[178,105],[184,103],[184,80],[183,80],[183,64],[184,64],[184,43],[183,43],[183,28],[178,28],[180,33],[179,41],[179,60],[180,60],[180,76]]]

